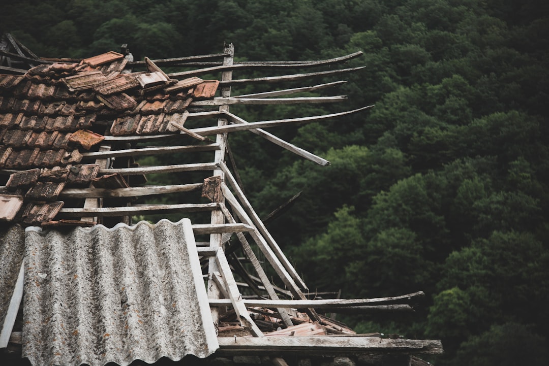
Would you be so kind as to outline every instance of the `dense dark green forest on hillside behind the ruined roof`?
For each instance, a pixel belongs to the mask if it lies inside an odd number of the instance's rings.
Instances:
[[[251,122],[375,105],[270,130],[328,167],[231,135],[250,201],[265,216],[302,192],[268,228],[311,290],[427,294],[412,316],[338,316],[358,332],[441,339],[436,365],[549,364],[548,2],[20,0],[0,27],[51,58],[362,50],[343,104],[231,107]]]

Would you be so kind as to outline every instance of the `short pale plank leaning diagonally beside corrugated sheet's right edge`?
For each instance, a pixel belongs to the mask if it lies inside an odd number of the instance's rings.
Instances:
[[[240,294],[237,283],[236,281],[234,281],[231,267],[229,267],[223,249],[217,249],[215,259],[217,262],[217,267],[219,267],[219,272],[221,273],[223,282],[225,283],[225,289],[229,296],[229,301],[231,302],[234,311],[237,314],[238,321],[244,328],[249,329],[254,337],[264,337],[265,335],[259,329],[259,327],[257,327],[257,324],[255,324],[254,321],[251,319],[250,314],[248,313],[248,309],[244,305],[242,294]]]

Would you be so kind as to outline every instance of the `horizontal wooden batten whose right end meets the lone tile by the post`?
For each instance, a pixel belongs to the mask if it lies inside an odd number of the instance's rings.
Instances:
[[[202,183],[178,184],[171,186],[144,186],[131,188],[65,188],[61,191],[61,198],[87,198],[87,197],[139,197],[150,195],[163,195],[164,193],[190,192],[199,190]]]

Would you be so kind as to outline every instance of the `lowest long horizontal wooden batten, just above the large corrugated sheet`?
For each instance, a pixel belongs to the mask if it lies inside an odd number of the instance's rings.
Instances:
[[[131,207],[62,208],[64,216],[127,216],[176,212],[199,212],[217,209],[216,203],[149,204]]]

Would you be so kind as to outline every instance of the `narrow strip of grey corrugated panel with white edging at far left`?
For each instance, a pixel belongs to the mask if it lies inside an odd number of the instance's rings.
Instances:
[[[25,232],[21,226],[4,226],[0,230],[0,347],[7,345],[15,321],[14,313],[17,313],[14,307],[19,305],[12,300],[12,295],[23,263],[24,248]]]

